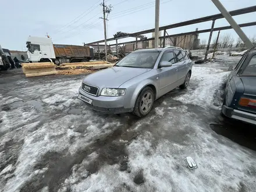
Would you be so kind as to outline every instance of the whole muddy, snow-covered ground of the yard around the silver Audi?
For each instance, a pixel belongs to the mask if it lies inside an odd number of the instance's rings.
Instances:
[[[224,59],[194,65],[143,119],[92,111],[84,75],[0,73],[0,191],[254,191],[255,126],[218,121],[237,60]]]

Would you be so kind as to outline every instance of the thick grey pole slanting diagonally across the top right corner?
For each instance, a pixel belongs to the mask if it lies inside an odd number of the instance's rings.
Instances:
[[[230,26],[234,29],[234,31],[236,31],[236,33],[239,35],[239,37],[241,38],[241,40],[243,40],[244,44],[247,46],[248,49],[253,47],[253,44],[251,43],[251,41],[249,40],[249,38],[246,36],[246,34],[244,34],[244,31],[241,30],[241,28],[239,27],[239,25],[236,23],[236,21],[233,19],[233,17],[229,14],[229,12],[227,12],[227,10],[225,9],[225,7],[222,5],[221,2],[219,2],[219,0],[212,0],[212,2],[214,3],[214,5],[219,9],[219,11],[222,13],[222,15],[225,17],[225,19],[227,20],[227,22],[229,22]]]

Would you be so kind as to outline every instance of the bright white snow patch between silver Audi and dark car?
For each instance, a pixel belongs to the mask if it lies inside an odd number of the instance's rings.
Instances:
[[[183,104],[198,105],[203,108],[218,109],[222,103],[218,97],[223,94],[223,84],[226,83],[230,72],[223,72],[221,69],[208,67],[193,67],[191,82],[196,83],[195,88],[189,87],[186,94],[179,95],[175,99]],[[221,90],[219,95],[216,91]],[[218,96],[216,98],[216,96]]]

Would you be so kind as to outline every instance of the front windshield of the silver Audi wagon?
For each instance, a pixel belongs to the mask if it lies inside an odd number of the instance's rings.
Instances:
[[[121,61],[116,63],[115,66],[152,69],[155,65],[155,62],[157,61],[159,54],[159,51],[132,52]]]

